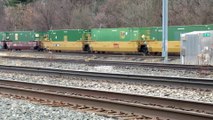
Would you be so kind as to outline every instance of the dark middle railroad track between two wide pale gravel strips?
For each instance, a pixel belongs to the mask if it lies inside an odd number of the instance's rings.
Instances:
[[[73,71],[51,68],[38,67],[20,67],[20,66],[5,66],[0,65],[0,70],[14,71],[14,72],[30,72],[39,74],[56,74],[56,75],[71,75],[78,77],[95,78],[97,80],[115,80],[122,82],[143,82],[143,83],[158,83],[171,85],[189,85],[199,88],[211,88],[213,86],[212,79],[203,78],[186,78],[186,77],[166,77],[166,76],[148,76],[148,75],[129,75],[129,74],[113,74],[113,73],[98,73]]]

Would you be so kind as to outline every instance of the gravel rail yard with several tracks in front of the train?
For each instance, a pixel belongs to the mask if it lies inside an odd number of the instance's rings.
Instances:
[[[0,119],[212,120],[213,68],[179,56],[0,51]]]

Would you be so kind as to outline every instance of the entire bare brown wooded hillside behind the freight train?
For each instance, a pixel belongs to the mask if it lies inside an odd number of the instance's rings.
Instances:
[[[0,0],[0,30],[161,25],[161,0]],[[213,23],[213,0],[169,0],[170,25]]]

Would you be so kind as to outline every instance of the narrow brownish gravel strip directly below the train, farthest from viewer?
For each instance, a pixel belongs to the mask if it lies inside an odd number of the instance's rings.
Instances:
[[[154,56],[143,56],[143,55],[55,53],[55,52],[47,52],[47,51],[46,52],[0,51],[0,56],[49,58],[49,59],[85,59],[85,60],[109,60],[109,61],[134,61],[134,62],[163,63],[163,60],[159,58],[160,56],[158,56],[158,58],[154,58]],[[176,56],[176,59],[169,60],[168,62],[171,64],[180,64],[181,63],[178,56]]]

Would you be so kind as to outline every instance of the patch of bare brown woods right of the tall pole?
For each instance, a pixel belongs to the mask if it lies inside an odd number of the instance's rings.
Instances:
[[[210,24],[213,20],[212,0],[171,0],[170,24]]]

